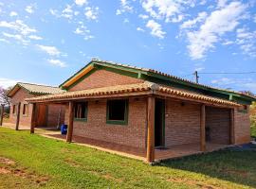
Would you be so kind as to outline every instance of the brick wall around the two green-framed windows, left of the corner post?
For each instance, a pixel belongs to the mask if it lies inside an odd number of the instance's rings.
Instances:
[[[129,99],[128,125],[111,125],[106,124],[106,100],[89,101],[87,122],[75,121],[73,134],[119,145],[145,147],[146,107],[143,98]],[[65,123],[68,123],[67,112]]]

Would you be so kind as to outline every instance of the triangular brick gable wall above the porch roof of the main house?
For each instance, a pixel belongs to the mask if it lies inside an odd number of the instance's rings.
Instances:
[[[68,91],[80,91],[84,89],[132,84],[138,82],[143,82],[143,80],[134,77],[119,75],[106,70],[97,70],[89,77],[85,77],[81,82],[70,88]]]

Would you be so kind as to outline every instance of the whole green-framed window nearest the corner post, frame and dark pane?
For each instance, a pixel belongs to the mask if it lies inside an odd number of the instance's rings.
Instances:
[[[107,123],[127,125],[128,123],[128,100],[107,101]]]

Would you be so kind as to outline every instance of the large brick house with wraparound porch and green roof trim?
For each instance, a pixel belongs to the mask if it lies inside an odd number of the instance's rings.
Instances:
[[[33,107],[65,106],[67,142],[79,136],[128,146],[154,162],[172,157],[174,149],[190,151],[192,144],[206,151],[250,141],[248,106],[256,98],[247,94],[102,60],[91,60],[60,88],[65,92],[26,100]],[[31,133],[36,119],[33,114]]]

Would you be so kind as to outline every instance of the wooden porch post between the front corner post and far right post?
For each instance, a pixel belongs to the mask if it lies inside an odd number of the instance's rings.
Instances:
[[[201,106],[200,113],[200,150],[206,150],[206,106]]]

